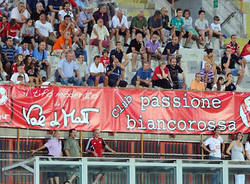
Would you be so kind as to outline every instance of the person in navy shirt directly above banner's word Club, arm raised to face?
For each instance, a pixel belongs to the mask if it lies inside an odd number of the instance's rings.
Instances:
[[[124,66],[119,62],[117,58],[114,59],[113,63],[108,65],[106,77],[108,78],[109,87],[126,87],[128,83],[122,80],[122,72],[124,71]]]

